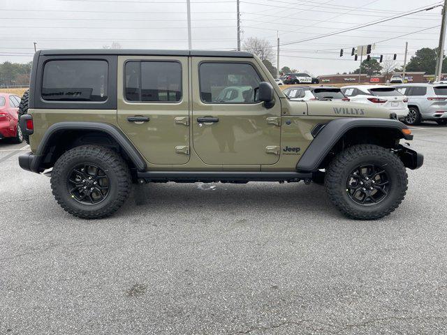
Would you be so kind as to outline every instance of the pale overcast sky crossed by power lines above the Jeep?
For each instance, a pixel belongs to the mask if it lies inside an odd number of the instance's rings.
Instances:
[[[241,0],[242,39],[280,43],[329,34],[440,3],[435,0]],[[0,0],[0,62],[27,62],[38,49],[187,49],[186,0]],[[232,50],[236,0],[191,0],[193,49]],[[376,43],[373,54],[397,53],[403,63],[420,47],[436,47],[441,9],[435,8],[335,36],[281,46],[280,66],[314,75],[355,70],[351,48]],[[344,57],[339,57],[340,48]],[[273,61],[276,64],[276,57]]]

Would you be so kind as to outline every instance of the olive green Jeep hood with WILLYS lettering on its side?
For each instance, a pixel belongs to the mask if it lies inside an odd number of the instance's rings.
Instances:
[[[301,102],[302,103],[302,102]],[[291,114],[302,114],[302,107],[298,101],[291,101]],[[306,101],[307,115],[315,117],[378,117],[390,119],[391,112],[386,108],[366,103],[352,103],[345,101]]]

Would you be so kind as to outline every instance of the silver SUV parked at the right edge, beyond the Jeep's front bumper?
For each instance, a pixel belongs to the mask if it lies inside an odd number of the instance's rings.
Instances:
[[[395,87],[409,98],[406,124],[416,125],[427,120],[447,124],[446,84],[400,84]]]

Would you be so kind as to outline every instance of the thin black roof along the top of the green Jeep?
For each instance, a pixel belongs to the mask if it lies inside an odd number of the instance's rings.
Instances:
[[[82,55],[82,54],[112,54],[135,56],[199,56],[199,57],[242,57],[251,58],[253,54],[243,51],[217,51],[217,50],[144,50],[144,49],[63,49],[40,50],[41,56],[46,55]]]

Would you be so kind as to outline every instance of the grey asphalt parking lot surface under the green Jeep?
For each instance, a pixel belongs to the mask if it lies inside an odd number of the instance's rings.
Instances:
[[[0,334],[446,334],[447,127],[413,133],[379,221],[302,183],[148,184],[85,221],[0,142]]]

